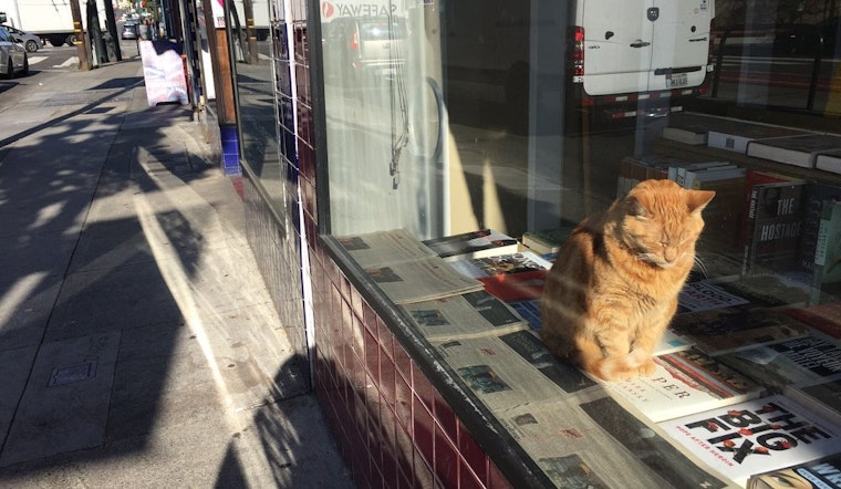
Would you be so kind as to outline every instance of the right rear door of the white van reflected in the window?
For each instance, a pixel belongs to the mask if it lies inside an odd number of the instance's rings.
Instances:
[[[648,90],[698,86],[707,74],[713,0],[657,0]]]

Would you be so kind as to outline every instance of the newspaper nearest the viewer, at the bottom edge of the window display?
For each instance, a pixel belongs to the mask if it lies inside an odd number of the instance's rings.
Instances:
[[[499,420],[557,487],[728,487],[601,389],[523,405]]]

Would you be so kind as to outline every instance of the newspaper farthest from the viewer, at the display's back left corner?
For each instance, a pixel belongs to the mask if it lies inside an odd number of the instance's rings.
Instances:
[[[336,239],[363,269],[437,257],[432,248],[405,229],[344,236]]]

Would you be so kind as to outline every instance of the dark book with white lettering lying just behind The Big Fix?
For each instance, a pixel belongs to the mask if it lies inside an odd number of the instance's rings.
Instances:
[[[776,392],[841,374],[841,348],[814,331],[797,339],[725,353],[716,358]]]

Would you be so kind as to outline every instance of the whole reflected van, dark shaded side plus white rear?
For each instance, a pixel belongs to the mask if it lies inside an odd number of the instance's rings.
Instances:
[[[554,1],[448,3],[450,93],[505,101],[509,113],[525,114],[515,106],[527,103],[538,79],[580,106],[665,104],[706,92],[714,0],[572,0],[565,9]],[[547,62],[550,55],[557,62]]]

